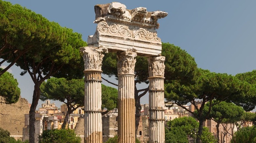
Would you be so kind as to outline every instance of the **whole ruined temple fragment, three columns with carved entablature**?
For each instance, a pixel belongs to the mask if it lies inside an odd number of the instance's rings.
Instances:
[[[149,142],[164,143],[164,60],[157,20],[168,13],[146,8],[126,9],[113,2],[95,6],[96,32],[88,47],[80,48],[84,58],[84,141],[102,143],[101,62],[104,53],[117,53],[118,143],[135,143],[134,68],[136,56],[149,63]]]

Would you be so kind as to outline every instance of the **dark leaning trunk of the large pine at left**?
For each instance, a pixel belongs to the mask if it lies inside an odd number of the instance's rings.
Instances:
[[[33,98],[32,103],[29,110],[29,142],[35,142],[35,109],[38,104],[38,100],[40,97],[40,85],[34,86]]]

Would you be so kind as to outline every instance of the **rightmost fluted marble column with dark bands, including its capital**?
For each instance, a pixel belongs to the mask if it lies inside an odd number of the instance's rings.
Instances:
[[[149,143],[164,143],[164,56],[148,58]]]

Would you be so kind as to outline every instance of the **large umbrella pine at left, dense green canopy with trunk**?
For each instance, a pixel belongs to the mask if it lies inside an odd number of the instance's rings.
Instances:
[[[9,66],[15,63],[23,70],[20,74],[29,73],[35,84],[30,113],[35,112],[40,86],[46,79],[52,76],[83,77],[79,48],[87,44],[82,35],[72,29],[50,22],[27,8],[0,0],[0,36],[0,59],[10,63]],[[0,71],[0,75],[5,70]],[[30,142],[34,142],[34,121],[34,114],[31,114]]]

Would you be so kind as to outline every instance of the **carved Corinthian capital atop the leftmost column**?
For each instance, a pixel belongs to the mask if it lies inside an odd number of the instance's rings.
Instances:
[[[103,52],[107,53],[108,49],[101,47],[82,47],[80,51],[83,52],[84,70],[101,71]]]

